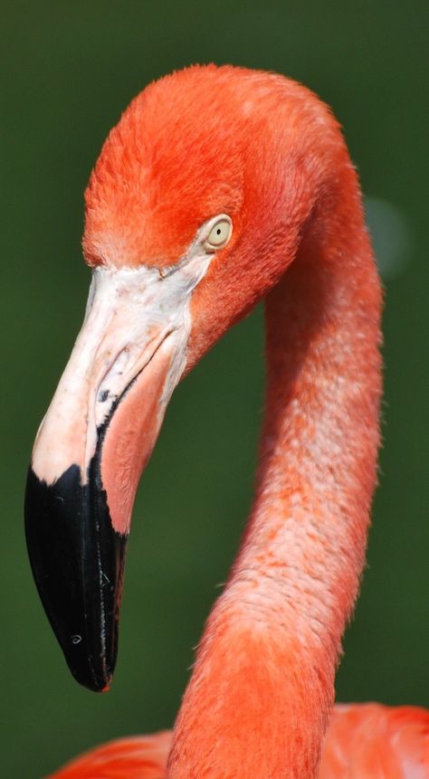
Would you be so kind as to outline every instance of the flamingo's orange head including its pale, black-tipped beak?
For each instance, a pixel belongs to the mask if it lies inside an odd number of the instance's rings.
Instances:
[[[311,212],[306,128],[333,119],[303,93],[231,67],[176,72],[130,104],[91,174],[86,315],[25,498],[39,594],[90,689],[114,670],[131,510],[170,395],[280,278]]]

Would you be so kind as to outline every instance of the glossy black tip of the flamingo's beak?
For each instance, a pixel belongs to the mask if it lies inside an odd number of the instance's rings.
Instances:
[[[117,658],[127,537],[111,526],[96,475],[82,486],[71,465],[48,485],[30,468],[24,513],[34,581],[65,660],[81,685],[103,692]]]

